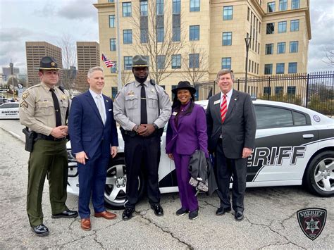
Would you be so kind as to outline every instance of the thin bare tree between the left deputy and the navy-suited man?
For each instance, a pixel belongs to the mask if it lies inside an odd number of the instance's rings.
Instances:
[[[64,34],[58,41],[58,46],[61,47],[61,54],[63,57],[63,70],[61,71],[61,85],[72,96],[75,91],[75,77],[76,77],[76,46],[71,35]]]

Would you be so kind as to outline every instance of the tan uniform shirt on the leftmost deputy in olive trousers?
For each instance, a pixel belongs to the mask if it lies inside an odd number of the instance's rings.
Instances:
[[[66,111],[69,99],[61,89],[54,87],[61,108],[61,125],[66,125]],[[41,82],[23,92],[20,100],[20,123],[30,130],[43,135],[50,135],[56,127],[56,112],[50,87]]]

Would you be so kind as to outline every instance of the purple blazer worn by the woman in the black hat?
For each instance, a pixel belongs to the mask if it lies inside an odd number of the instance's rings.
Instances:
[[[194,104],[192,113],[178,118],[178,127],[175,126],[175,115],[173,111],[168,122],[166,154],[192,155],[196,149],[201,149],[209,157],[204,108]]]

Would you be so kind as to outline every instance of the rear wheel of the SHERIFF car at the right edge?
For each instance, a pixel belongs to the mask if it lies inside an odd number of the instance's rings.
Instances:
[[[334,152],[324,151],[307,167],[306,184],[309,190],[323,197],[334,195]]]

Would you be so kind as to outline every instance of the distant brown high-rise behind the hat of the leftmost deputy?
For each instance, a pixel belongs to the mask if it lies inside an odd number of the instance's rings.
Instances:
[[[59,68],[63,68],[61,48],[47,42],[25,42],[27,56],[28,86],[39,83],[39,61],[43,56],[52,56],[56,59]]]

